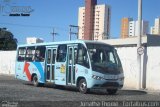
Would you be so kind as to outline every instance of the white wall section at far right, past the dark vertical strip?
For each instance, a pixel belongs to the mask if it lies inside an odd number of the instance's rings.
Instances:
[[[160,47],[148,47],[146,55],[146,88],[160,90]]]

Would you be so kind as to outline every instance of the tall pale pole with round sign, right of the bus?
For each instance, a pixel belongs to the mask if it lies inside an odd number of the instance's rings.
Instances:
[[[141,47],[141,29],[142,29],[142,0],[138,0],[138,41],[137,41],[137,50]],[[141,80],[142,80],[142,72],[141,72],[141,54],[137,52],[137,64],[138,64],[138,72],[139,72],[139,89],[141,89]]]

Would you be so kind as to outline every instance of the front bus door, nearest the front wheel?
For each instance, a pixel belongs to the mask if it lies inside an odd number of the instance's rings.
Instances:
[[[68,46],[68,70],[67,85],[75,85],[75,60],[77,57],[77,45]]]

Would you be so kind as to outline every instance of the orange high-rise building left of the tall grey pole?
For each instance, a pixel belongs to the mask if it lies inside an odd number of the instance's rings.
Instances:
[[[121,38],[128,38],[129,37],[129,23],[133,21],[132,18],[122,18],[121,20]]]

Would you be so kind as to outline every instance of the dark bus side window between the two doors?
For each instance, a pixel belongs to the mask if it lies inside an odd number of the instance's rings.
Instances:
[[[57,51],[57,62],[66,61],[67,45],[59,45]]]

